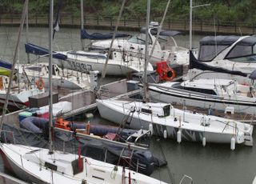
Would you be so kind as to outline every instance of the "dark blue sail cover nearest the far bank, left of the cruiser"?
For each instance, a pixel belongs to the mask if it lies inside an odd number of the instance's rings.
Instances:
[[[115,34],[115,38],[122,38],[128,37],[130,34]],[[101,34],[101,33],[94,33],[88,34],[86,30],[81,30],[81,39],[90,39],[90,40],[104,40],[104,39],[111,39],[113,37],[113,33],[110,34]]]

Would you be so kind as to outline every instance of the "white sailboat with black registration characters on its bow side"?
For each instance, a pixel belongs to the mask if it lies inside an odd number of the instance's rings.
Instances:
[[[85,71],[84,68],[90,66],[92,70],[98,70],[100,74],[105,66],[108,55],[105,51],[60,51],[60,54],[66,55],[66,60],[56,60],[55,63],[64,66],[70,70]],[[147,70],[153,71],[153,66],[149,63]],[[144,60],[130,56],[125,51],[111,51],[108,60],[107,75],[127,75],[144,70]]]

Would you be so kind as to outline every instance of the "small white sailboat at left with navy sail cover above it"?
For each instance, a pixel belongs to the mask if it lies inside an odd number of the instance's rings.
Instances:
[[[25,49],[27,54],[35,54],[40,57],[46,57],[49,55],[49,50],[42,46],[35,46],[32,43],[26,43]],[[66,55],[54,52],[53,58],[65,60]],[[26,76],[31,81],[35,82],[38,79],[44,81],[45,86],[49,86],[48,74],[49,74],[49,63],[37,63],[37,64],[24,64],[18,67],[19,73],[26,73]],[[91,67],[83,68],[82,72],[79,72],[76,68],[74,70],[68,70],[64,66],[59,67],[53,63],[53,86],[55,88],[62,87],[64,89],[71,90],[89,90],[94,86],[94,81],[90,81],[94,75],[97,76],[97,70],[91,70]]]

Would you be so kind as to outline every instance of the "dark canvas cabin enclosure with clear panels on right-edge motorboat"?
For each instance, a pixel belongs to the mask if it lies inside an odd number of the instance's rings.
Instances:
[[[256,36],[207,36],[200,41],[198,60],[256,63]]]

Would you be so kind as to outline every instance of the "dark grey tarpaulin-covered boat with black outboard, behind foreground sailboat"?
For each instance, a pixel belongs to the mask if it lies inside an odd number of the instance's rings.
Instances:
[[[17,128],[3,124],[1,134],[1,142],[9,142],[15,144],[26,144],[27,146],[37,146],[41,148],[49,148],[46,134],[33,133],[29,130]],[[152,174],[154,166],[166,166],[165,159],[155,158],[150,150],[128,149],[126,146],[115,145],[112,142],[102,142],[91,137],[74,136],[73,132],[62,130],[54,130],[54,149],[65,150],[68,153],[78,154],[78,145],[81,147],[81,154],[97,160],[110,162],[130,167],[131,170],[146,175]],[[131,161],[120,159],[120,155],[128,157],[132,154]]]

